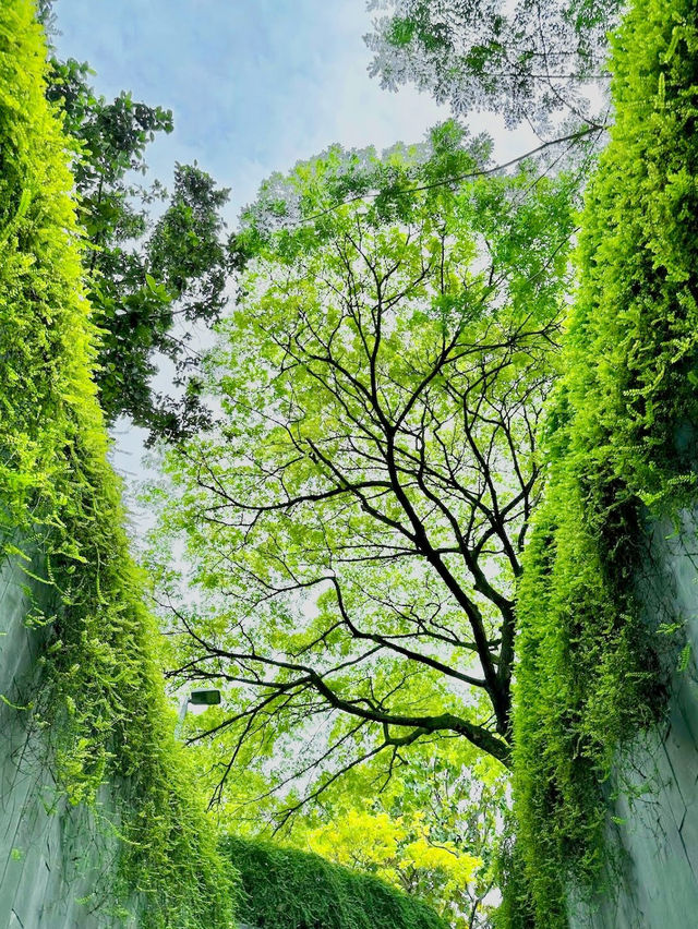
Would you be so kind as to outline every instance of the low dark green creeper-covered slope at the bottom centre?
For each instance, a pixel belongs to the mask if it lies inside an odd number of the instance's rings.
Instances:
[[[239,918],[258,929],[446,929],[421,901],[320,855],[228,837],[240,872]]]

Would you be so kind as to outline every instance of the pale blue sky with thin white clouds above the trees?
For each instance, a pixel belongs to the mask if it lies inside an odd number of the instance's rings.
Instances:
[[[227,219],[264,178],[334,142],[346,147],[419,142],[446,108],[410,87],[397,94],[368,74],[365,0],[55,0],[61,57],[88,61],[98,93],[121,89],[173,112],[174,132],[148,149],[155,177],[196,159],[231,189]],[[497,160],[534,141],[496,117],[473,117]],[[142,476],[142,435],[117,430],[115,463]]]

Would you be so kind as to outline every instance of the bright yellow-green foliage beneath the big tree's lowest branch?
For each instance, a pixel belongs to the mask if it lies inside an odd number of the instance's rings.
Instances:
[[[488,756],[468,755],[460,739],[437,755],[416,747],[378,791],[380,772],[368,765],[305,811],[288,838],[417,895],[455,929],[489,926],[508,779]]]

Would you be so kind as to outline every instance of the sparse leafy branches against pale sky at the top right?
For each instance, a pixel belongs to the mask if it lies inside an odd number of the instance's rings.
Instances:
[[[547,130],[562,113],[593,124],[605,85],[606,33],[619,0],[370,0],[390,9],[365,36],[384,87],[414,83],[454,112],[502,112],[509,126]]]

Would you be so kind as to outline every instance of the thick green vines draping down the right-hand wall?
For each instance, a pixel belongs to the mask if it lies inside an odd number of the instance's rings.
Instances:
[[[696,12],[636,0],[613,41],[616,122],[587,194],[520,588],[517,855],[545,929],[566,925],[565,881],[598,877],[611,764],[666,692],[634,578],[648,515],[696,488]]]

